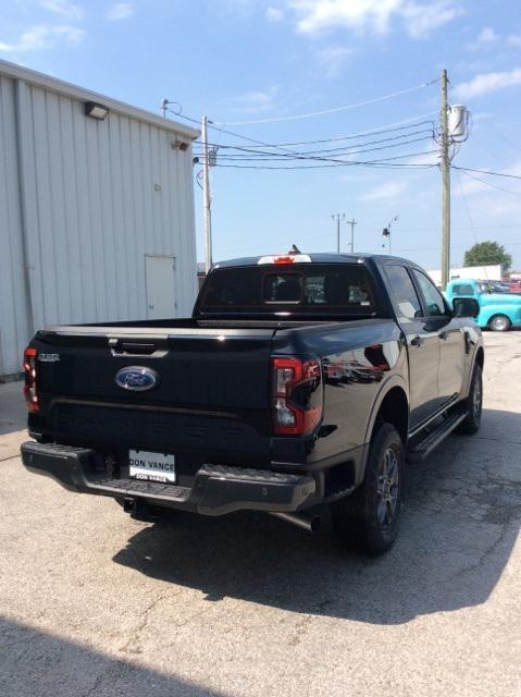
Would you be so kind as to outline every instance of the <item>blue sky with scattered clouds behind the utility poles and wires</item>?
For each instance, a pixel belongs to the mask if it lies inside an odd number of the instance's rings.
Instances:
[[[434,83],[321,117],[235,125],[372,100],[436,80],[446,68],[450,102],[472,113],[454,163],[521,175],[519,0],[0,0],[0,58],[156,112],[169,97],[186,115],[207,113],[264,143],[325,139],[415,117],[437,122]],[[219,131],[211,139],[240,143]],[[435,147],[426,139],[358,157]],[[436,154],[400,161],[433,163]],[[491,239],[521,269],[521,181],[475,176],[483,181],[452,172],[452,260]],[[285,250],[293,242],[332,250],[331,215],[346,212],[358,221],[356,249],[380,250],[382,228],[398,216],[393,252],[439,267],[437,168],[215,168],[212,185],[214,259]],[[196,185],[202,259],[200,207]],[[343,225],[345,249],[347,242]]]

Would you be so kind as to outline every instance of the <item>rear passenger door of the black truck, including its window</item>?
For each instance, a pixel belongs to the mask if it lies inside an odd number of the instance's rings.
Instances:
[[[384,272],[398,323],[407,340],[410,426],[414,428],[431,416],[438,404],[439,337],[423,317],[422,303],[409,269],[399,262],[386,264]]]

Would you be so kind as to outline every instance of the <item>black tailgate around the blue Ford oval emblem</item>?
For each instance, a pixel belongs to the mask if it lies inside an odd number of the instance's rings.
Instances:
[[[270,458],[273,329],[191,329],[104,333],[97,328],[39,332],[40,409],[29,428],[45,438],[97,447],[199,455],[213,462]],[[149,391],[123,389],[122,368],[156,371]]]

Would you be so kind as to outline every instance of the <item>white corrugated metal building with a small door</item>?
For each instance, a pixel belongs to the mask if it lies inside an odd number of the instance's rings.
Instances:
[[[197,135],[0,61],[0,376],[45,325],[191,313]]]

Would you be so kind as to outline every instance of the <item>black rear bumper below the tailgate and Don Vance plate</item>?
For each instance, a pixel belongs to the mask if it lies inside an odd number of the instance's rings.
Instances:
[[[34,441],[23,443],[22,461],[30,472],[52,477],[70,491],[131,498],[204,515],[246,509],[293,512],[317,502],[318,481],[309,475],[207,464],[191,487],[178,487],[114,478],[103,472],[95,450]]]

